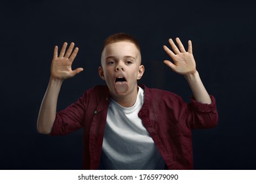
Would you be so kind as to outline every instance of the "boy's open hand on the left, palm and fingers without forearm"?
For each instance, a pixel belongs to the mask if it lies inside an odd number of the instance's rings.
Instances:
[[[74,48],[75,44],[74,42],[71,42],[69,48],[67,49],[67,42],[64,42],[62,46],[62,50],[60,50],[60,55],[58,56],[58,46],[54,47],[54,54],[52,58],[52,65],[50,69],[50,76],[54,80],[65,80],[67,78],[71,78],[81,71],[83,69],[81,67],[75,69],[72,71],[71,65],[77,56],[79,48]]]

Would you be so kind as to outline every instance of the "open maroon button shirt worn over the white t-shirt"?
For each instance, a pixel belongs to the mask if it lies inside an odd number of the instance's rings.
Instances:
[[[168,169],[192,169],[191,129],[217,125],[214,97],[210,95],[210,105],[198,103],[194,99],[188,104],[172,92],[139,86],[145,93],[138,116]],[[56,114],[50,135],[66,135],[84,127],[84,169],[98,169],[100,165],[109,98],[107,86],[96,86]]]

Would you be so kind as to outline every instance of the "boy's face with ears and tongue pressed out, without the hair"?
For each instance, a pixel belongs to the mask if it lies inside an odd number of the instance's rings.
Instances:
[[[137,80],[144,73],[141,54],[134,43],[120,41],[105,46],[99,75],[114,97],[137,96]]]

